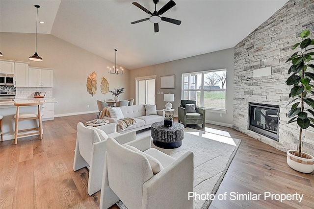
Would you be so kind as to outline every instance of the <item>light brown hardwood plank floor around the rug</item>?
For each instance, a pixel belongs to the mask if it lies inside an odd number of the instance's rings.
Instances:
[[[99,208],[100,192],[87,194],[86,168],[73,171],[77,123],[92,120],[96,115],[44,121],[42,140],[28,137],[19,139],[17,145],[14,140],[0,142],[0,209]],[[231,137],[242,139],[216,197],[224,192],[304,194],[300,203],[262,198],[260,201],[219,201],[216,198],[210,208],[314,208],[314,172],[302,174],[292,170],[284,152],[231,128],[206,126],[207,131],[222,135],[228,132]]]

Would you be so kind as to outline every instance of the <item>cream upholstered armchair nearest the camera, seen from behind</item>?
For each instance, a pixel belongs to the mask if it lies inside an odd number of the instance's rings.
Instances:
[[[100,209],[119,199],[128,209],[193,209],[193,199],[188,200],[193,192],[192,152],[176,160],[151,148],[150,136],[126,144],[107,139]]]

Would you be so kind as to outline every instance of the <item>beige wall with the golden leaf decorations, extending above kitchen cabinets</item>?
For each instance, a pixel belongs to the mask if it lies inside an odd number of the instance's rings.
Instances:
[[[125,87],[126,91],[120,98],[129,98],[130,70],[124,70],[123,75],[109,74],[106,68],[114,63],[52,35],[38,34],[37,52],[43,62],[28,60],[35,52],[35,34],[0,33],[0,51],[3,53],[1,59],[25,61],[32,67],[54,69],[52,92],[58,101],[54,106],[55,115],[95,112],[98,110],[96,100],[113,98],[111,93],[104,95],[100,92],[102,76],[108,80],[110,90]],[[114,58],[113,50],[112,56]],[[86,91],[86,78],[93,71],[97,73],[97,93],[92,96]]]

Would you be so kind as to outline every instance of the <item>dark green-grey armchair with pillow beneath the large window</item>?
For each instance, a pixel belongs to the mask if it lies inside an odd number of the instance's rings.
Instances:
[[[196,107],[196,101],[181,100],[178,114],[179,123],[182,122],[184,127],[187,124],[202,124],[205,128],[205,109]]]

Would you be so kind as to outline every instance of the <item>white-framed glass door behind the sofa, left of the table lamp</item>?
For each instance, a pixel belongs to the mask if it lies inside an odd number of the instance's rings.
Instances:
[[[136,80],[136,104],[155,105],[155,78]]]

